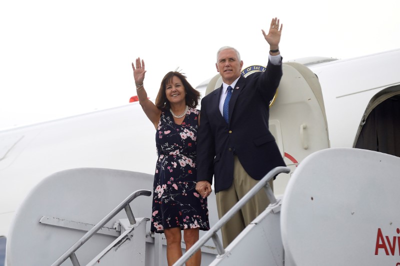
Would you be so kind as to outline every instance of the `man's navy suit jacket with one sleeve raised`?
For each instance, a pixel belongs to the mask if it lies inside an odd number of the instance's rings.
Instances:
[[[269,132],[269,102],[282,76],[282,65],[267,64],[264,72],[241,76],[229,101],[229,123],[219,111],[222,86],[201,100],[197,133],[197,181],[207,180],[215,193],[233,181],[236,155],[244,170],[260,180],[271,169],[285,166],[275,139]]]

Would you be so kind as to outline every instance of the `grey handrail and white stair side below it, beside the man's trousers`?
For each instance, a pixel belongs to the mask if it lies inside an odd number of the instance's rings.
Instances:
[[[174,266],[181,266],[198,250],[203,243],[212,238],[218,256],[209,265],[268,265],[283,266],[283,246],[280,236],[281,200],[275,199],[268,181],[280,173],[289,173],[288,167],[276,167],[266,174],[240,201],[238,201],[193,247],[185,253]],[[263,189],[271,204],[250,225],[230,243],[226,249],[216,235],[220,228],[240,210],[240,208]]]

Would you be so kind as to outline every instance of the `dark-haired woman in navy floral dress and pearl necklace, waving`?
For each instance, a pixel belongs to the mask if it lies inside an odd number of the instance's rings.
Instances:
[[[161,81],[155,104],[143,87],[144,61],[132,62],[139,103],[156,129],[156,163],[151,232],[164,233],[168,266],[181,256],[181,230],[188,250],[198,240],[199,230],[208,230],[207,201],[196,186],[196,133],[199,111],[195,109],[200,94],[176,71]],[[199,266],[201,251],[186,265]]]

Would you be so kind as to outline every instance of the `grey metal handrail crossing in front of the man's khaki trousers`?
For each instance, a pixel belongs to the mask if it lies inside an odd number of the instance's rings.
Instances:
[[[182,266],[184,263],[191,257],[193,254],[199,250],[210,238],[212,238],[212,241],[215,244],[216,251],[218,252],[218,255],[223,255],[225,253],[225,250],[222,247],[221,241],[219,240],[218,236],[216,235],[216,232],[224,225],[226,224],[227,221],[230,220],[230,218],[233,217],[233,215],[238,212],[241,207],[243,207],[260,189],[265,188],[266,196],[269,199],[269,206],[274,206],[278,202],[273,195],[272,189],[270,188],[268,181],[276,176],[277,174],[280,173],[290,173],[290,168],[288,167],[283,167],[283,166],[278,166],[273,168],[271,171],[269,171],[254,187],[252,187],[246,195],[244,195],[243,198],[241,198],[222,218],[210,229],[205,233],[196,243],[194,243],[193,246],[190,247],[186,253],[179,258],[173,264],[173,266]]]

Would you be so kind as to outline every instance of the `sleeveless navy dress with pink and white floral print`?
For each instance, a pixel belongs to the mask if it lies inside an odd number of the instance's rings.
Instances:
[[[181,125],[172,114],[161,112],[155,133],[158,160],[155,167],[151,232],[164,229],[208,230],[207,199],[196,187],[197,109],[189,108]]]

